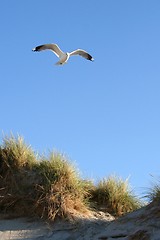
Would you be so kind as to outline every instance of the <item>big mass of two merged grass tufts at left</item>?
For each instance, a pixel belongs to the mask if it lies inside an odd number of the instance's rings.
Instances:
[[[74,166],[59,153],[37,157],[23,138],[0,147],[0,209],[48,219],[87,211],[87,192]]]

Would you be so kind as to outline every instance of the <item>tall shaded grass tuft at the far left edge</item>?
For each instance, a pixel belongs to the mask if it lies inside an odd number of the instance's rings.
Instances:
[[[22,137],[5,137],[0,146],[0,210],[13,215],[30,212],[36,156]]]

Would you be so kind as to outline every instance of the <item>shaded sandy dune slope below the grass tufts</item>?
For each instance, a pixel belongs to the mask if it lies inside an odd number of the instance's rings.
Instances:
[[[109,214],[92,214],[76,222],[1,219],[0,240],[160,240],[160,206],[150,204],[117,220]]]

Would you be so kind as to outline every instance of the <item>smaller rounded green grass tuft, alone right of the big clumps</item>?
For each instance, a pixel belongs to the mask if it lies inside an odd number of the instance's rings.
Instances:
[[[92,194],[97,206],[105,208],[115,216],[121,216],[142,206],[130,190],[128,179],[123,181],[116,176],[101,180]]]

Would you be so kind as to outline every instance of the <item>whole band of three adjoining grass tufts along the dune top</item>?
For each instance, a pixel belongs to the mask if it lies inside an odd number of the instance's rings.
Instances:
[[[115,176],[97,185],[81,179],[62,154],[39,156],[22,137],[4,137],[0,146],[0,210],[10,216],[50,220],[104,209],[115,216],[142,206],[128,182]]]

